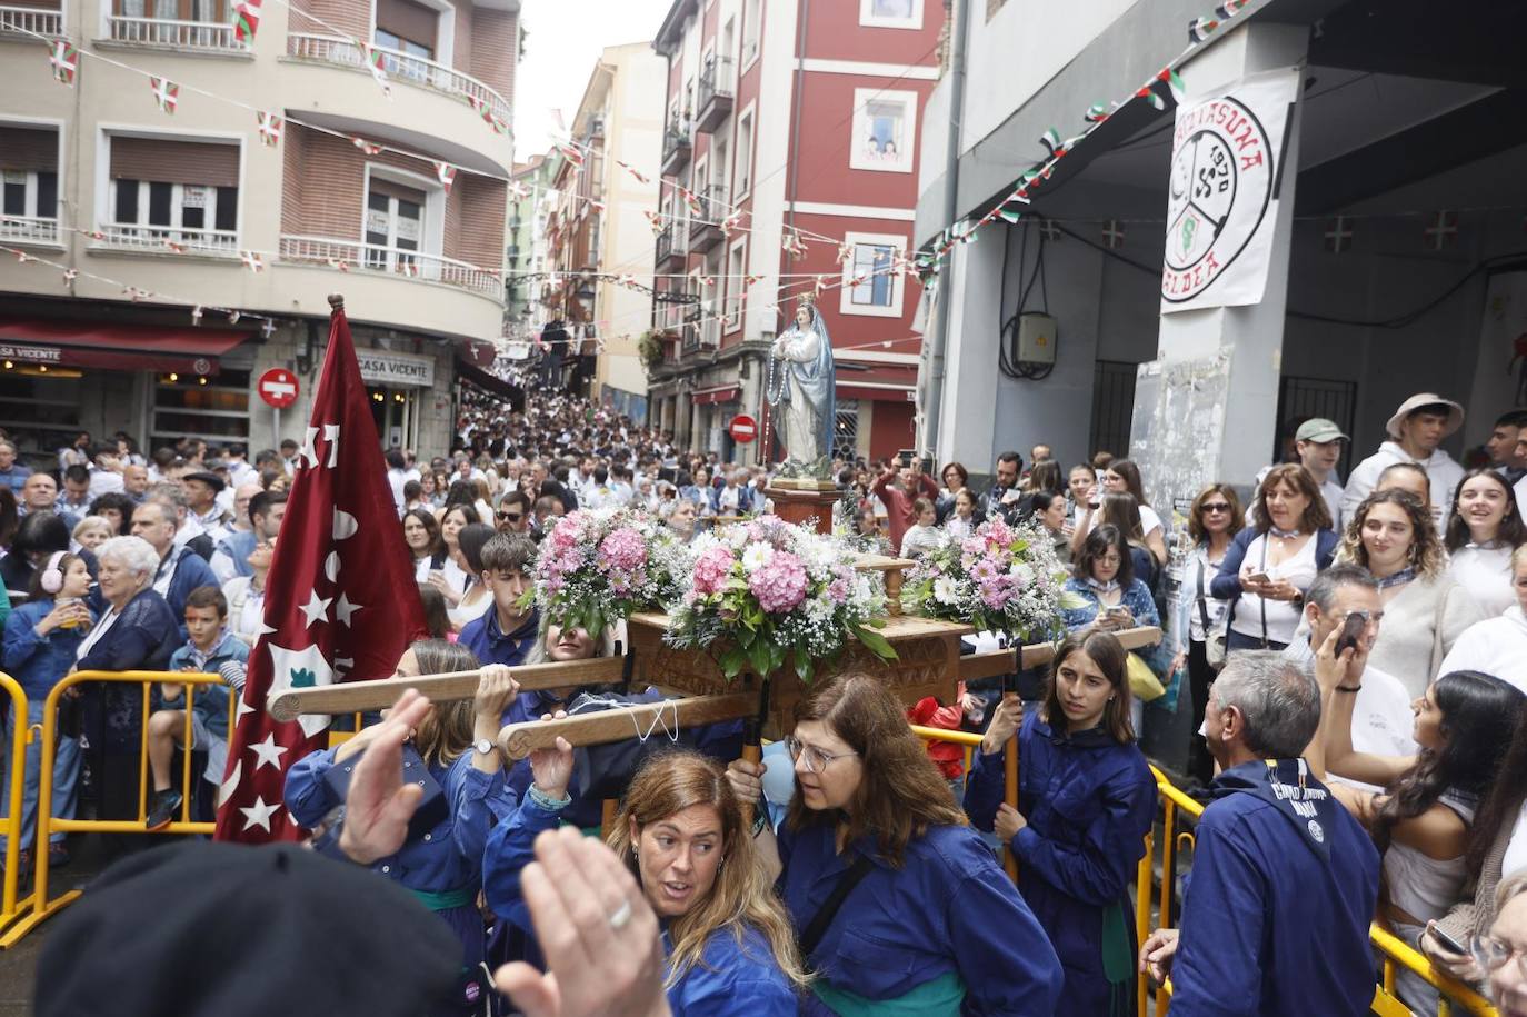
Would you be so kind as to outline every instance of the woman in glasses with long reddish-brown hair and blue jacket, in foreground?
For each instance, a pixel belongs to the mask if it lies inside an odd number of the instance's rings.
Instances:
[[[965,823],[948,785],[873,676],[849,673],[797,707],[796,794],[754,837],[815,973],[803,1014],[1055,1012],[1061,967],[1044,930]],[[767,767],[734,760],[762,809]]]

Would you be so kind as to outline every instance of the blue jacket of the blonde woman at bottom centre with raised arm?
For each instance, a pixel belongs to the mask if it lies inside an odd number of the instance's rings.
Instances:
[[[531,933],[530,909],[521,892],[519,873],[534,861],[536,835],[556,829],[560,822],[560,812],[525,797],[515,815],[495,826],[487,838],[483,895],[495,915],[527,935]],[[664,930],[663,951],[669,954],[672,950]],[[728,928],[712,933],[699,964],[667,988],[667,1000],[673,1017],[796,1017],[800,1005],[789,979],[774,964],[768,941],[751,927],[744,930],[741,942]]]

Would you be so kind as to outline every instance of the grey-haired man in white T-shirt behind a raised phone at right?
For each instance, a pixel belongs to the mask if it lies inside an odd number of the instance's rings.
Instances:
[[[1379,623],[1383,620],[1379,582],[1361,565],[1332,565],[1304,594],[1304,620],[1283,655],[1315,667],[1315,652],[1353,615],[1365,618],[1358,638],[1362,641],[1362,654],[1367,655],[1373,641],[1379,638]],[[1299,635],[1306,629],[1309,638],[1303,640]],[[1419,748],[1411,738],[1414,730],[1411,696],[1400,680],[1368,664],[1358,686],[1361,690],[1338,687],[1335,692],[1335,695],[1358,696],[1351,712],[1353,750],[1380,756],[1414,756]],[[1328,774],[1327,782],[1382,791],[1336,774]]]

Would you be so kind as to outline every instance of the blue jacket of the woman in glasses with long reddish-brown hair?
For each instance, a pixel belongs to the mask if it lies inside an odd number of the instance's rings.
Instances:
[[[907,843],[899,869],[867,841],[841,855],[831,825],[779,831],[780,892],[796,928],[831,896],[860,854],[869,873],[843,901],[808,957],[831,986],[867,1000],[899,999],[954,974],[962,1014],[1052,1017],[1061,967],[991,849],[968,826],[935,826]]]

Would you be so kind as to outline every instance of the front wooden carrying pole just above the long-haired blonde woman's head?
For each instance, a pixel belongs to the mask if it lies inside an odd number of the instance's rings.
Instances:
[[[510,759],[524,759],[538,748],[554,747],[557,736],[565,738],[573,745],[608,745],[649,736],[666,738],[687,727],[738,721],[757,713],[757,709],[759,693],[756,692],[663,699],[634,707],[599,710],[597,713],[579,713],[557,721],[508,724],[498,733],[498,744]]]

